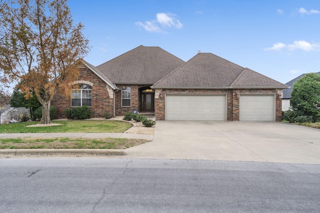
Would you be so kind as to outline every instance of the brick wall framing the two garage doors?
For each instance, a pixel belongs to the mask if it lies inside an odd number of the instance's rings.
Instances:
[[[155,118],[165,120],[165,94],[223,94],[226,95],[226,120],[239,121],[238,94],[275,94],[275,121],[281,121],[281,93],[276,89],[161,89],[155,94]]]

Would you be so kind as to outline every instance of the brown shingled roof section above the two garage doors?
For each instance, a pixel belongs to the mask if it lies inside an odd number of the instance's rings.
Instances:
[[[212,53],[197,53],[152,88],[287,88]]]

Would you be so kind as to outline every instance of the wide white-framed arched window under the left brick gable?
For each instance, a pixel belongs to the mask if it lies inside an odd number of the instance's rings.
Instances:
[[[91,106],[91,86],[86,84],[77,84],[72,87],[71,107]]]

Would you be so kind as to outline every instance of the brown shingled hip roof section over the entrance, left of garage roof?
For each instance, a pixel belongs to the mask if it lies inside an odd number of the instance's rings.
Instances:
[[[97,68],[115,84],[154,84],[183,63],[160,47],[140,45]]]

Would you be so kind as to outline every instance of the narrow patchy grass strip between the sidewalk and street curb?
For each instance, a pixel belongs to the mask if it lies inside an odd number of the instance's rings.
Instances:
[[[10,138],[0,139],[0,149],[126,149],[146,142],[127,138]]]

